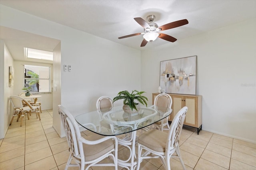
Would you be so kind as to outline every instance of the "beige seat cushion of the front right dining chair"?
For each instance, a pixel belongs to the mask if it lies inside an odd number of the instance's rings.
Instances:
[[[157,152],[165,152],[168,133],[150,129],[138,137],[138,143]]]

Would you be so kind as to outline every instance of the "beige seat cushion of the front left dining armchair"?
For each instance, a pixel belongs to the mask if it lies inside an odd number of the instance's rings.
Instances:
[[[85,137],[84,139],[88,141],[96,141],[102,137],[104,136],[93,134],[88,137]],[[112,139],[108,139],[107,141],[104,141],[96,145],[88,145],[83,143],[83,147],[84,147],[84,160],[90,161],[114,149],[114,141]]]

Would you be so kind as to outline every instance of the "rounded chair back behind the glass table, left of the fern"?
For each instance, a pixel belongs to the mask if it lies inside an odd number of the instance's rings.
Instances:
[[[101,113],[110,111],[113,106],[113,100],[108,96],[101,96],[96,102],[97,110]]]

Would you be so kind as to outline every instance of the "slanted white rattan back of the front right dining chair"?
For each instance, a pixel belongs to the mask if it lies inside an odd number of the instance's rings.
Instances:
[[[180,133],[182,130],[182,126],[183,126],[187,111],[188,111],[188,107],[184,106],[175,115],[171,123],[169,134],[168,134],[168,141],[166,143],[167,150],[169,150],[170,148],[173,148],[174,145],[175,146],[179,145]]]

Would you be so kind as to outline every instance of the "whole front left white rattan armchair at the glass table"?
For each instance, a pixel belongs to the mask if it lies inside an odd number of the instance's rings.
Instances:
[[[58,111],[70,151],[65,170],[69,166],[79,166],[80,170],[88,170],[91,166],[114,166],[115,170],[118,169],[118,141],[115,136],[102,136],[95,133],[84,138],[73,115],[60,105]],[[107,157],[111,157],[113,162],[99,163]],[[76,164],[71,164],[72,160]]]

